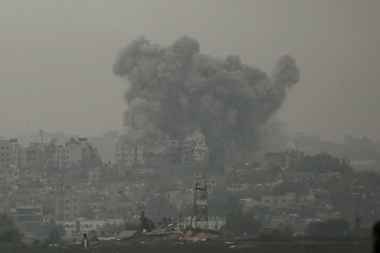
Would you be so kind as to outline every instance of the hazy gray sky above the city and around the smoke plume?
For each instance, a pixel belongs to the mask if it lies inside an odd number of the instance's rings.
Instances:
[[[341,142],[380,138],[380,1],[0,1],[0,136],[122,128],[119,49],[139,35],[271,71],[291,54],[301,81],[277,118]]]

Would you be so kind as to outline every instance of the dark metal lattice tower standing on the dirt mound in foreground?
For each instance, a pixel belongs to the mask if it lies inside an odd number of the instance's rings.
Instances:
[[[207,218],[207,179],[205,178],[195,178],[193,215],[195,228],[209,228]]]

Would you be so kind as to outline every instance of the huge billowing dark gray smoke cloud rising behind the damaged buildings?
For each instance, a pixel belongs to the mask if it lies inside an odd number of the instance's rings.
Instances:
[[[299,81],[290,55],[268,76],[241,63],[199,52],[199,43],[182,36],[171,46],[144,36],[128,44],[113,65],[128,77],[128,109],[118,145],[152,139],[206,138],[214,158],[248,158],[265,142],[266,124]]]

